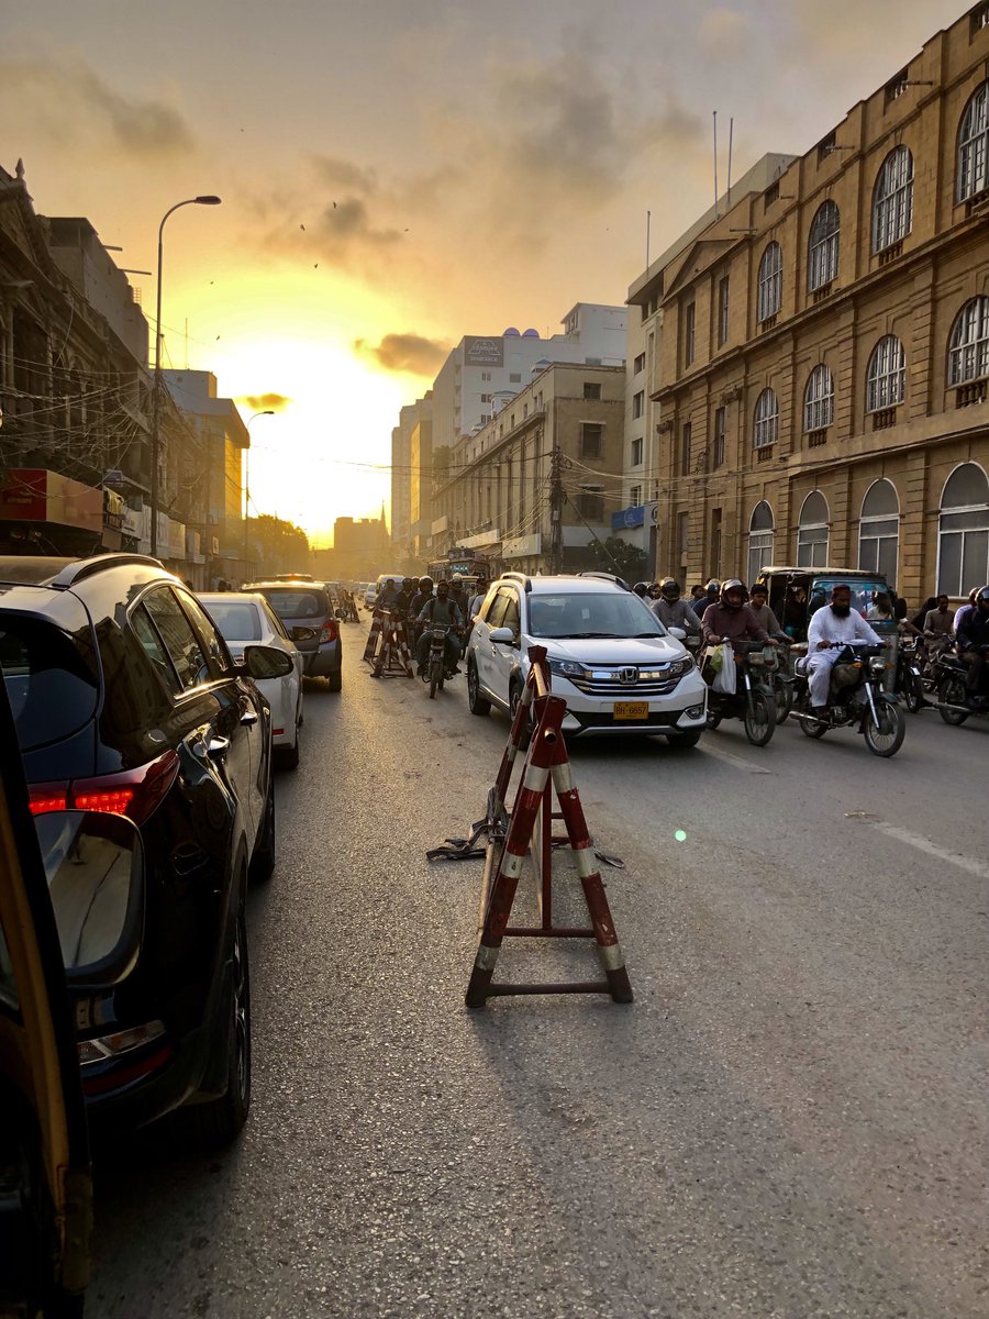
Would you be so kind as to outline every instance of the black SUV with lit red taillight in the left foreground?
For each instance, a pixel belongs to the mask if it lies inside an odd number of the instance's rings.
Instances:
[[[150,1121],[194,1104],[231,1138],[251,1099],[248,874],[274,865],[270,712],[244,663],[156,559],[0,558],[0,669],[36,815],[112,811],[146,859],[140,956],[76,995],[90,1121]]]

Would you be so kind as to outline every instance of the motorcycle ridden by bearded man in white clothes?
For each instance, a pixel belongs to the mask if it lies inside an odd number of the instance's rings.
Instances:
[[[804,656],[796,661],[793,718],[799,720],[807,737],[815,739],[835,728],[857,724],[873,756],[895,756],[903,745],[906,719],[897,698],[882,690],[889,663],[885,648],[869,641],[839,641],[832,649],[839,650],[839,656],[831,669],[824,715],[811,714]]]

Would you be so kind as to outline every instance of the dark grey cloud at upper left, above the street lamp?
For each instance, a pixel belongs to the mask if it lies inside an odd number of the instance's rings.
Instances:
[[[41,65],[0,61],[0,106],[30,115],[59,141],[91,135],[127,154],[164,156],[193,148],[193,132],[178,109],[150,98],[128,99],[82,62]],[[8,116],[13,117],[9,111]]]

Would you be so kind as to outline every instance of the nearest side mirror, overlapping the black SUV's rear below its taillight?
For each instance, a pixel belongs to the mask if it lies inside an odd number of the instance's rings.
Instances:
[[[144,936],[144,845],[108,811],[44,811],[34,831],[55,913],[66,980],[108,989],[133,969]]]

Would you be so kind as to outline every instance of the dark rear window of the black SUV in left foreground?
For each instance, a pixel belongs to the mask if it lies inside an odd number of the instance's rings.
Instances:
[[[67,737],[96,712],[96,674],[71,637],[49,623],[3,619],[0,669],[21,751]]]

